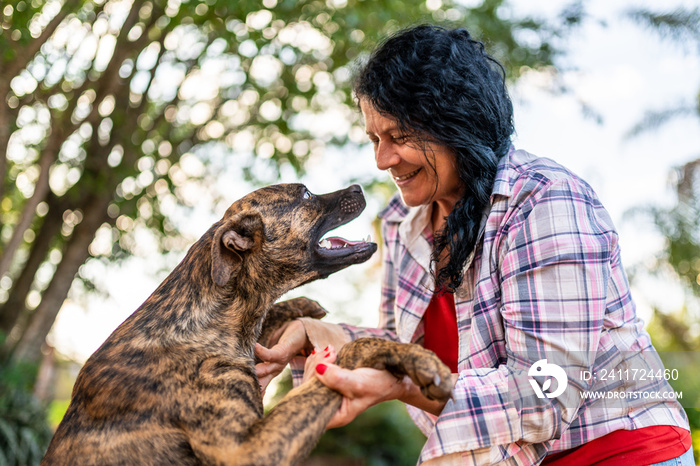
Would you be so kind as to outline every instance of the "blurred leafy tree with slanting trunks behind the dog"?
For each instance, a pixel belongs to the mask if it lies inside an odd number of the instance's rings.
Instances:
[[[173,206],[224,160],[245,179],[303,172],[360,143],[352,63],[418,21],[488,38],[515,79],[551,64],[559,31],[503,0],[21,0],[0,28],[0,332],[36,362],[87,260],[125,257],[146,228],[181,245]],[[571,15],[566,18],[571,21]],[[346,122],[319,131],[319,117]],[[316,119],[314,119],[316,118]],[[217,165],[218,164],[218,165]],[[263,173],[261,175],[261,173]],[[212,193],[216,196],[216,193]],[[110,238],[110,247],[95,241]]]

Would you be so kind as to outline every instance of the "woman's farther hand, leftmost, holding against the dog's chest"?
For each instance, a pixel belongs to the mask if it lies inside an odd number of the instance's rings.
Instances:
[[[270,381],[282,372],[289,361],[310,345],[304,324],[298,320],[285,324],[279,339],[271,340],[270,343],[274,346],[265,348],[259,343],[255,344],[255,355],[263,361],[255,366],[263,393]]]

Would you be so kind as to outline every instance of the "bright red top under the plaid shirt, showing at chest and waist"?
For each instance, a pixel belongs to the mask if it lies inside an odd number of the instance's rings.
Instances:
[[[423,346],[433,351],[452,372],[458,372],[459,334],[454,295],[435,292],[425,311]],[[580,447],[550,455],[547,466],[628,466],[676,458],[690,448],[690,432],[674,426],[617,430]]]

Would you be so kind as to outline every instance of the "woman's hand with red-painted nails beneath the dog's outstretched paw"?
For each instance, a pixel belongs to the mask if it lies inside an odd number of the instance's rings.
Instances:
[[[420,388],[408,377],[397,379],[385,370],[360,367],[343,369],[333,364],[336,359],[333,347],[314,350],[306,360],[304,380],[315,376],[328,388],[343,395],[343,401],[326,428],[344,426],[366,409],[388,400],[400,400],[432,414],[439,415],[445,402],[425,398]],[[457,374],[453,374],[456,382]]]

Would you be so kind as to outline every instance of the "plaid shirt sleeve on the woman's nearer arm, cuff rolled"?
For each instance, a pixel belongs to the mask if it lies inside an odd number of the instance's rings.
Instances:
[[[410,410],[428,435],[421,461],[461,452],[463,464],[488,464],[483,458],[537,464],[576,416],[587,388],[579,375],[594,362],[617,243],[608,214],[587,186],[556,180],[525,199],[503,227],[491,257],[497,276],[477,287],[500,294],[507,360],[461,371],[437,419]],[[486,307],[475,302],[474,314]],[[557,398],[538,398],[528,370],[564,355],[559,362],[571,388]],[[470,459],[474,452],[479,463]]]

